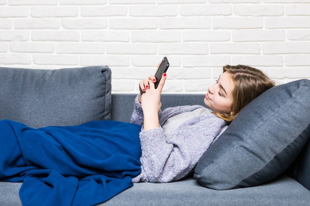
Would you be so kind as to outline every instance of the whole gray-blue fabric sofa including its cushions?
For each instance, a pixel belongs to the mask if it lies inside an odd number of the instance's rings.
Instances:
[[[110,75],[107,66],[0,68],[0,119],[32,127],[129,122],[136,94],[111,94]],[[203,99],[201,94],[163,94],[162,109],[203,105]],[[309,103],[309,80],[276,86],[238,115],[207,150],[194,176],[135,183],[100,205],[310,206]],[[21,185],[0,182],[0,206],[20,206]]]

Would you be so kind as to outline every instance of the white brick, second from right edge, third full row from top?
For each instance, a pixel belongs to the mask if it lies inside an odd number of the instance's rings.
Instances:
[[[233,31],[233,41],[285,41],[285,31],[238,30]]]

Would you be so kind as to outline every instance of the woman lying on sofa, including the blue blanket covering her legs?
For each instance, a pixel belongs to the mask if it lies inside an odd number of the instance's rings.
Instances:
[[[251,67],[223,71],[207,89],[208,108],[161,111],[163,74],[157,89],[154,76],[140,82],[145,92],[135,100],[134,124],[92,121],[35,129],[0,120],[0,181],[23,182],[23,205],[76,206],[102,203],[132,182],[186,177],[240,110],[274,85]]]

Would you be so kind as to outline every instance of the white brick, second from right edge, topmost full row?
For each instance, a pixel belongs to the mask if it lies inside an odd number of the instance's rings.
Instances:
[[[234,13],[239,16],[283,16],[282,5],[235,5]]]

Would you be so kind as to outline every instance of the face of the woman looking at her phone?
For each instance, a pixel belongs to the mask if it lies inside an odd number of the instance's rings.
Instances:
[[[232,91],[234,88],[235,84],[231,80],[230,74],[222,73],[218,80],[208,87],[204,100],[206,106],[215,112],[232,114]]]

